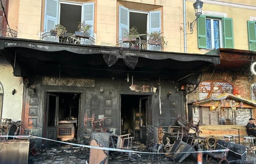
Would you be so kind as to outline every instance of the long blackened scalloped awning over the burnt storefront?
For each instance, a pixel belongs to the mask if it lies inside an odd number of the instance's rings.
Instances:
[[[121,47],[118,47],[121,48]],[[172,80],[192,78],[213,64],[219,55],[188,54],[140,50],[135,69],[119,58],[113,66],[103,59],[102,46],[45,42],[40,40],[0,38],[0,54],[14,67],[15,76],[52,75],[66,77],[134,77]],[[184,78],[184,79],[183,79]],[[189,79],[191,83],[192,79]],[[181,80],[181,81],[182,81]]]

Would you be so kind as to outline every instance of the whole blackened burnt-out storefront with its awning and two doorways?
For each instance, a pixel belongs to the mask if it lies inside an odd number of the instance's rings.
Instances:
[[[197,84],[202,71],[219,64],[218,55],[25,39],[1,39],[0,47],[25,86],[20,133],[62,141],[89,133],[86,118],[101,123],[94,130],[135,138],[146,125],[186,118],[186,84]]]

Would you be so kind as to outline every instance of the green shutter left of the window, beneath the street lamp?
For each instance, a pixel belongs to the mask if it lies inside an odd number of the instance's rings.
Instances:
[[[206,17],[200,15],[197,19],[198,48],[206,48]]]

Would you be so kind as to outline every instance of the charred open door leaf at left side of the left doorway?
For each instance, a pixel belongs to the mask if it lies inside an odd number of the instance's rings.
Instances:
[[[57,139],[59,95],[46,94],[46,110],[45,110],[45,130],[44,137],[52,140]],[[45,140],[44,146],[55,144],[56,142]]]

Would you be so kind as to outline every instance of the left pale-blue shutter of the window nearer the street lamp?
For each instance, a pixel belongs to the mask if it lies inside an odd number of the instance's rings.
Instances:
[[[129,9],[123,6],[119,6],[119,37],[118,40],[122,40],[124,32],[129,31]]]

